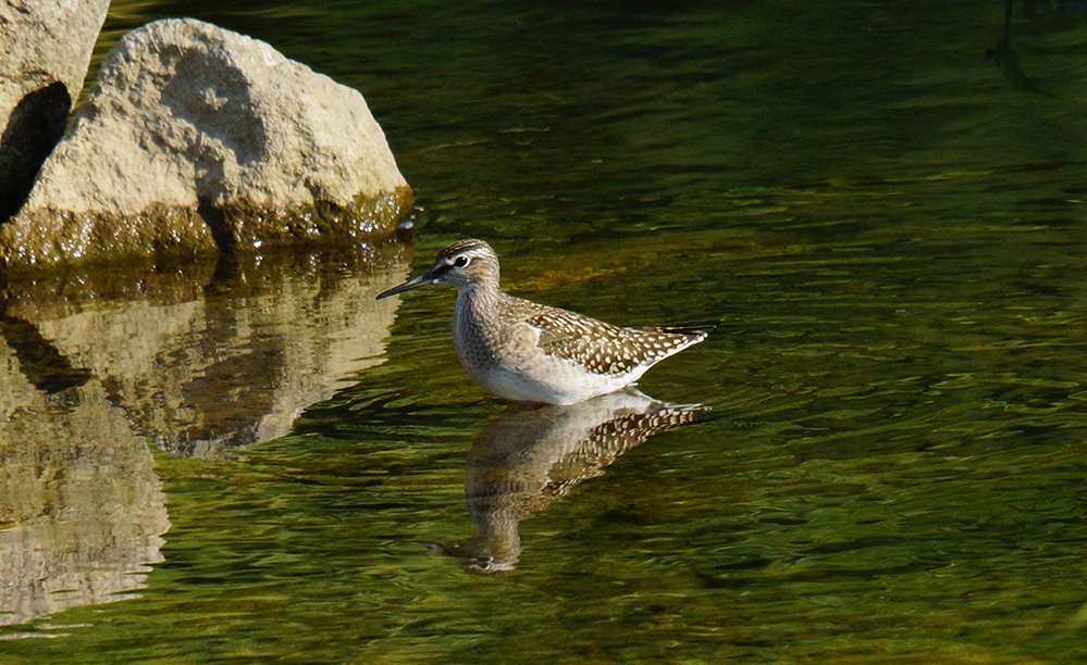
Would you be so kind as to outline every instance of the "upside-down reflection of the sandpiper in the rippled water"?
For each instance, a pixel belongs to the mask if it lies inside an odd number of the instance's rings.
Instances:
[[[521,553],[517,529],[522,519],[602,475],[651,436],[707,411],[632,389],[569,406],[509,406],[480,432],[468,454],[465,495],[475,534],[445,552],[471,573],[512,570]]]

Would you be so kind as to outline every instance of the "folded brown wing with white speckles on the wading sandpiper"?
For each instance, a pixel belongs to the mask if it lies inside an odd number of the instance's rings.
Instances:
[[[652,365],[706,336],[703,328],[622,328],[544,306],[539,306],[524,322],[540,330],[538,343],[544,353],[608,375]]]

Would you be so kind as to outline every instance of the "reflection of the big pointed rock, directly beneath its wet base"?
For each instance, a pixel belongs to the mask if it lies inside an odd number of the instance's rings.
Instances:
[[[136,432],[214,457],[285,435],[301,409],[380,362],[395,301],[373,294],[406,269],[391,247],[13,286],[0,317],[8,373],[46,392],[94,376],[101,407],[123,410]]]

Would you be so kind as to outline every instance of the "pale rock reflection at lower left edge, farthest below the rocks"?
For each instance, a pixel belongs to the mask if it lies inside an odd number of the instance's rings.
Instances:
[[[124,599],[170,526],[147,440],[101,382],[47,394],[13,360],[0,340],[0,625]]]

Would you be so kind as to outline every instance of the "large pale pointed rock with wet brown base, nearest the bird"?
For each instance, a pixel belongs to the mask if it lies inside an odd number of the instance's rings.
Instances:
[[[9,267],[383,236],[411,192],[362,96],[194,20],[126,35],[0,229]]]

